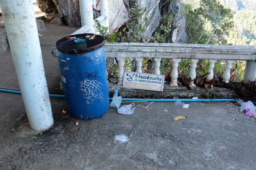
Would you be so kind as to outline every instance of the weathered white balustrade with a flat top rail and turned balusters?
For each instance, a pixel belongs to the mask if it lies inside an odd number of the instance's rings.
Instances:
[[[214,65],[217,60],[226,61],[223,74],[224,82],[230,80],[230,69],[236,60],[247,62],[244,82],[254,81],[256,76],[256,46],[234,45],[198,45],[174,43],[106,43],[104,46],[106,57],[116,57],[118,61],[118,85],[122,85],[124,74],[124,58],[135,58],[136,72],[142,72],[143,58],[154,58],[154,73],[160,74],[160,63],[163,58],[172,59],[171,86],[178,86],[178,63],[180,59],[190,59],[189,77],[196,78],[198,59],[208,59],[208,74],[206,80],[214,78]],[[248,64],[249,63],[249,64]],[[250,71],[248,71],[250,70]],[[190,84],[196,86],[194,82]]]

